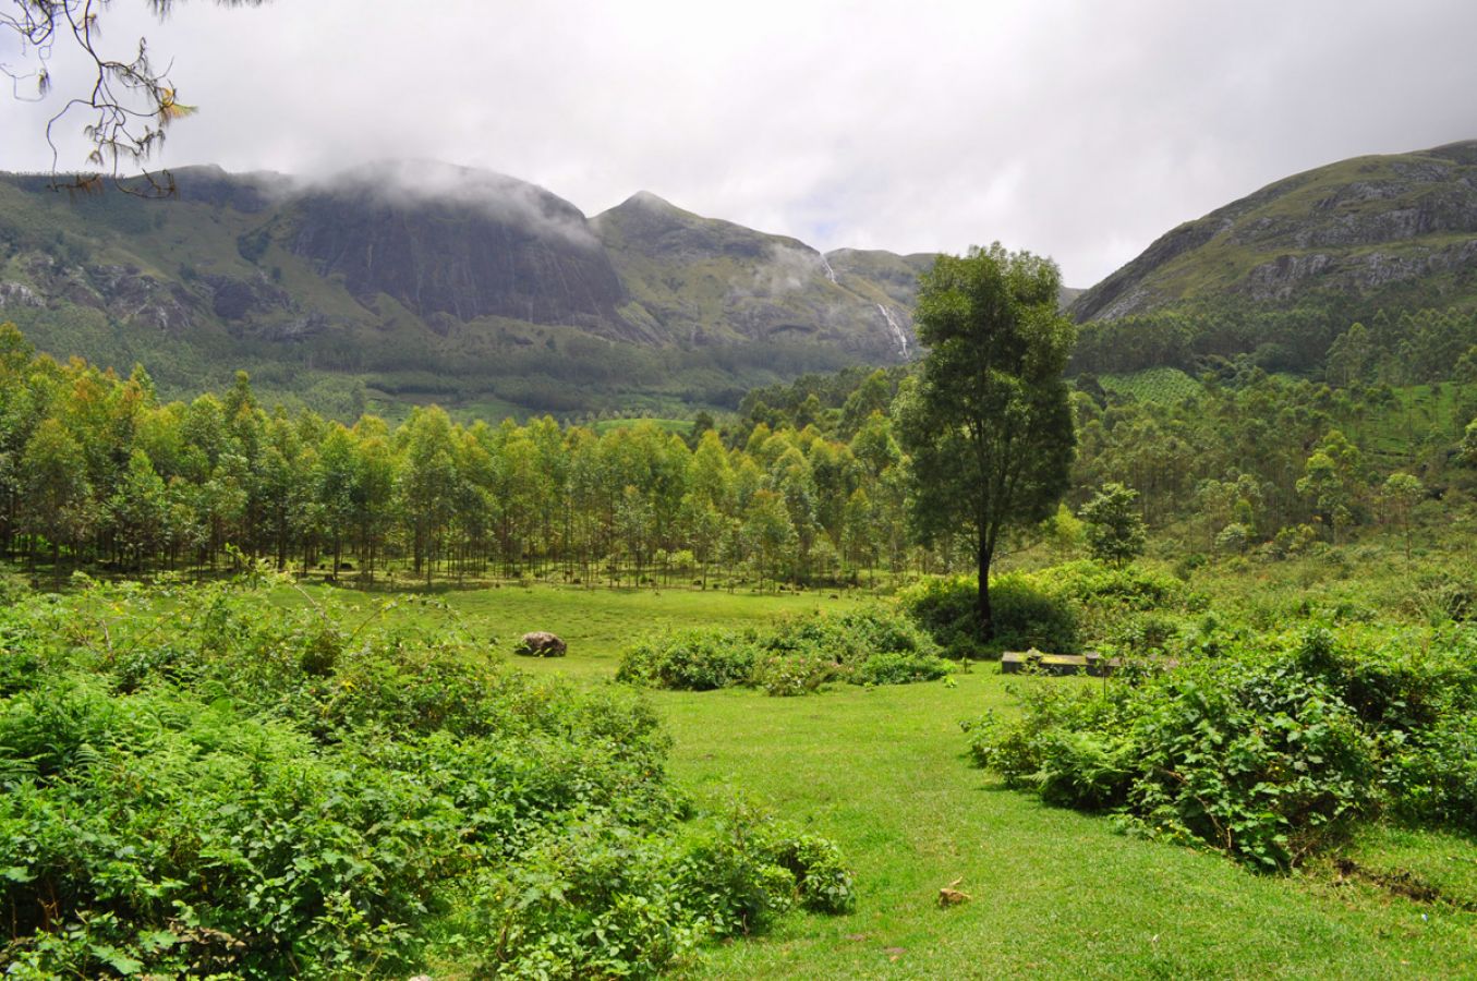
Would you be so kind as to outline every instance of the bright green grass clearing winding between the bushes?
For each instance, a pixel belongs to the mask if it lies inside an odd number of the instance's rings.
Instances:
[[[448,592],[499,656],[529,629],[570,643],[557,660],[517,659],[592,684],[623,644],[682,623],[764,621],[839,606],[824,592],[755,595],[535,587]],[[414,609],[414,607],[411,607]],[[412,613],[422,616],[424,613]],[[1043,807],[967,765],[959,721],[1013,711],[1021,684],[995,665],[956,687],[837,686],[811,697],[656,691],[672,771],[699,798],[750,795],[836,841],[857,872],[840,917],[795,915],[771,935],[716,947],[700,977],[1477,977],[1477,845],[1374,829],[1325,863],[1254,875],[1217,854],[1140,841],[1105,817]],[[1416,901],[1387,881],[1409,872],[1453,901]],[[973,898],[939,909],[959,881]]]

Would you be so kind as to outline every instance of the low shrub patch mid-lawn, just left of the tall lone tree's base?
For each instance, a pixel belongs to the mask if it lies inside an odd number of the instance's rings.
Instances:
[[[907,684],[948,674],[938,646],[883,607],[815,613],[765,628],[690,628],[645,637],[622,654],[620,681],[707,691],[752,686],[792,696],[832,681]]]

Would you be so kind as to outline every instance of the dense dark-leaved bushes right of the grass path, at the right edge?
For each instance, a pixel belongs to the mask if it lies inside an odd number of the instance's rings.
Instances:
[[[1295,866],[1356,821],[1477,832],[1477,631],[1282,632],[1207,619],[1102,686],[1028,687],[966,725],[981,767],[1257,867]]]

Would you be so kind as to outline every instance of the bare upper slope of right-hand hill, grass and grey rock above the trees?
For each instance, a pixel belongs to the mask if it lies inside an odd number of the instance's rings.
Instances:
[[[1080,321],[1196,301],[1286,307],[1477,301],[1477,142],[1356,157],[1286,177],[1170,230],[1083,293]]]

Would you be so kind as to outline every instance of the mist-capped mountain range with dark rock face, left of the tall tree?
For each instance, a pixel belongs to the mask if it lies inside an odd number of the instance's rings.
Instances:
[[[258,392],[335,414],[721,406],[908,359],[932,260],[823,256],[650,194],[586,219],[535,185],[430,163],[176,180],[152,201],[0,174],[0,319],[58,356],[143,362],[167,393],[247,368]]]

